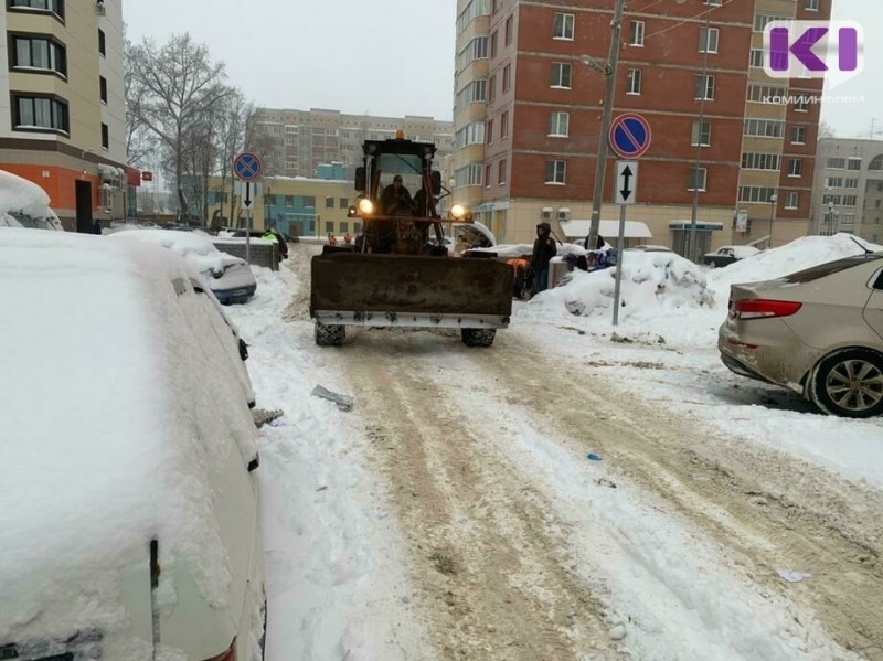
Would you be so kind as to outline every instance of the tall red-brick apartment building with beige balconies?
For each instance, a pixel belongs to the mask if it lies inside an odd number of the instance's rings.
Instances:
[[[458,0],[455,199],[502,242],[532,241],[541,220],[591,217],[614,9]],[[776,245],[806,233],[821,82],[774,81],[757,58],[773,17],[828,15],[830,0],[627,3],[614,116],[650,124],[628,216],[652,243],[684,250],[694,194],[700,253],[763,242],[774,222]],[[616,221],[613,161],[602,218]]]

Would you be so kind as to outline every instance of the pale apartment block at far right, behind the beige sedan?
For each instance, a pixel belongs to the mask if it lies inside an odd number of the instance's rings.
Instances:
[[[882,242],[883,140],[822,138],[817,161],[812,233]]]

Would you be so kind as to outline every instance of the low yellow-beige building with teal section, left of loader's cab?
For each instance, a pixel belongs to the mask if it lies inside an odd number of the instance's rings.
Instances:
[[[290,236],[342,236],[359,232],[361,224],[347,217],[347,210],[355,200],[353,182],[343,179],[307,179],[302,177],[264,177],[259,181],[260,194],[254,202],[252,227],[275,227]],[[209,216],[220,225],[244,227],[246,211],[242,200],[233,200],[231,223],[231,195],[219,192],[221,180],[210,183]],[[222,203],[223,201],[223,203]]]

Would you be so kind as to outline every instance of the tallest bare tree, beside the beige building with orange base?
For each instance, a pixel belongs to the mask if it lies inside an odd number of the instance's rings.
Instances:
[[[215,132],[211,122],[234,89],[225,84],[224,64],[212,62],[206,46],[195,44],[188,33],[172,35],[162,46],[145,39],[131,45],[128,55],[131,125],[142,126],[159,142],[185,213],[190,207],[185,180],[208,178],[205,163],[213,164],[216,158],[211,158],[209,147]],[[192,153],[194,145],[199,154]]]

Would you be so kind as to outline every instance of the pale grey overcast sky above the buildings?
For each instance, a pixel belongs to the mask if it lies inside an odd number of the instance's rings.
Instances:
[[[259,106],[451,119],[456,0],[123,2],[130,39],[190,32]],[[865,65],[832,94],[864,102],[829,102],[822,117],[844,138],[868,137],[875,119],[883,138],[881,0],[833,7],[863,25]]]

